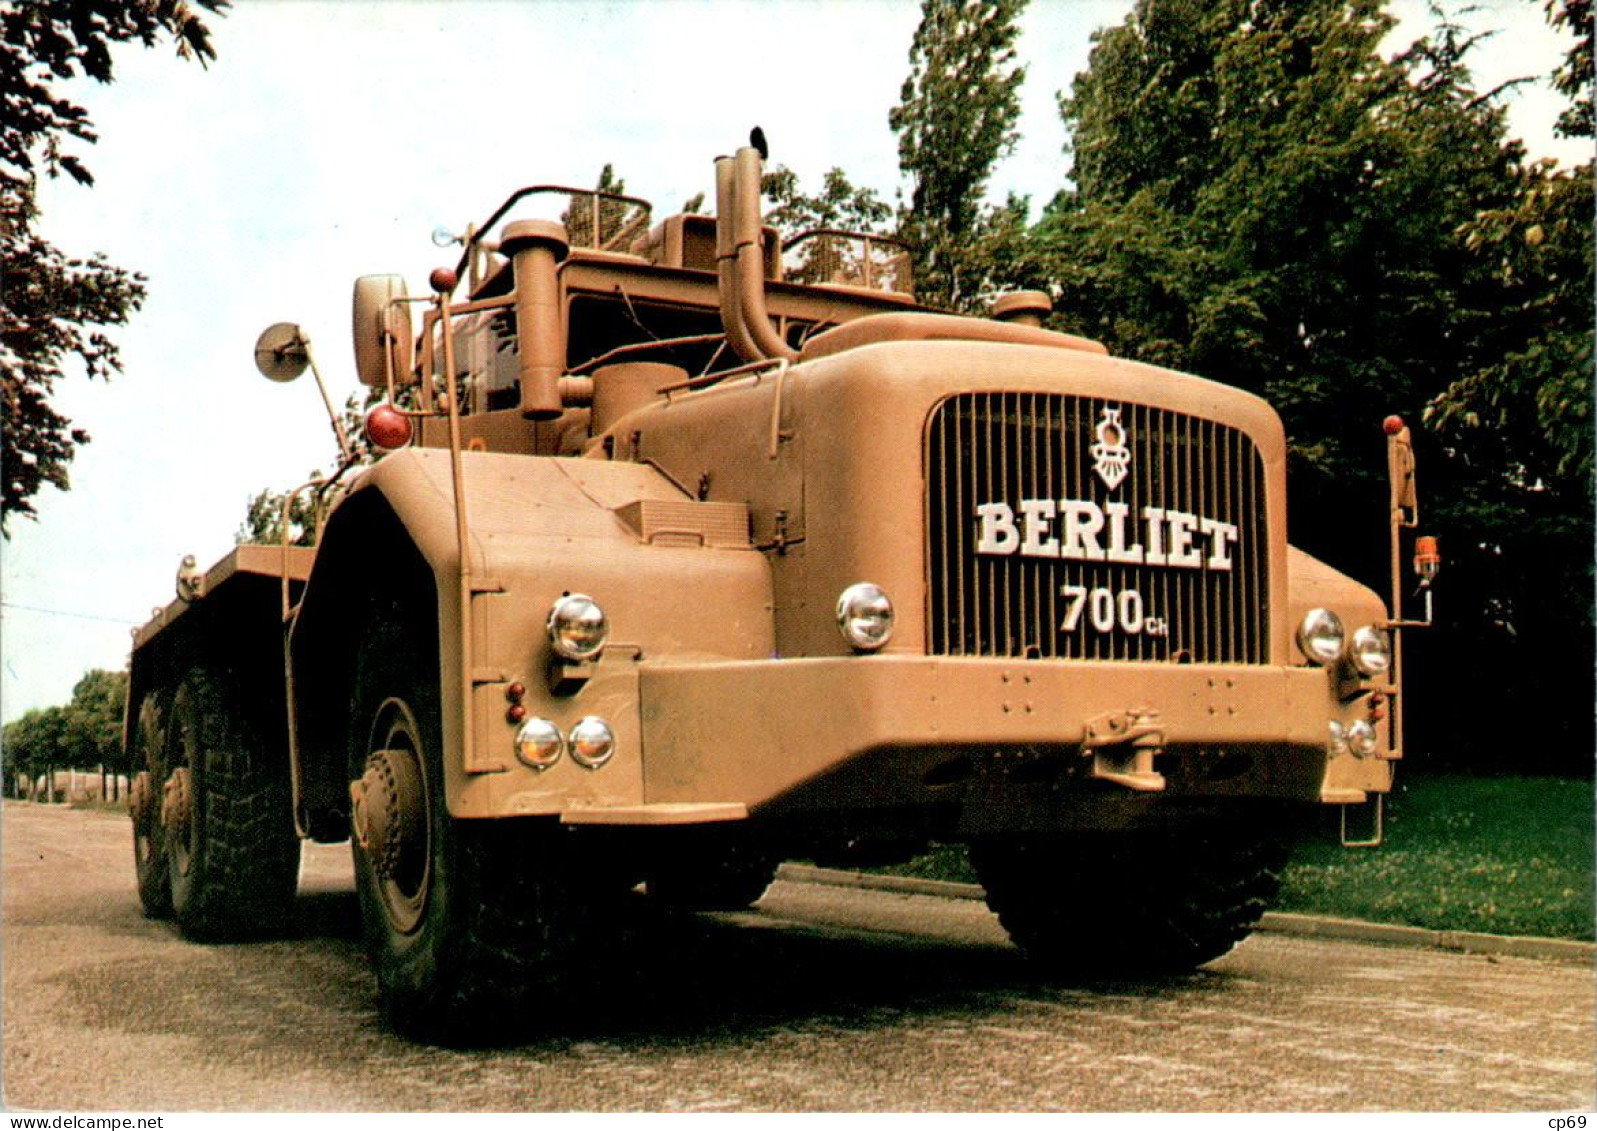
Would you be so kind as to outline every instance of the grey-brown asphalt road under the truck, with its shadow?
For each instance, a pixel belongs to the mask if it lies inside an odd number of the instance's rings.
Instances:
[[[613,974],[525,1043],[385,1032],[348,853],[292,938],[139,914],[123,818],[6,802],[11,1110],[1592,1110],[1589,966],[1258,936],[1153,984],[1051,986],[981,904],[779,882],[639,907]]]

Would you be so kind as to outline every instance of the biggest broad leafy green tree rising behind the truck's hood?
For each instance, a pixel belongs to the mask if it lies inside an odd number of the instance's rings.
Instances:
[[[1456,40],[1388,61],[1389,27],[1378,0],[1142,0],[1062,99],[1076,188],[1038,232],[1073,326],[1274,403],[1294,537],[1369,577],[1378,420],[1477,347],[1439,332],[1487,288],[1455,233],[1517,161]]]

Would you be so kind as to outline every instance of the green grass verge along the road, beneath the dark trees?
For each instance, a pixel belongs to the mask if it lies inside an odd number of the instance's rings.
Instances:
[[[1583,780],[1401,773],[1386,804],[1386,843],[1343,848],[1327,821],[1294,853],[1276,907],[1433,930],[1591,939],[1592,805],[1592,783]],[[976,882],[958,845],[882,871]]]

